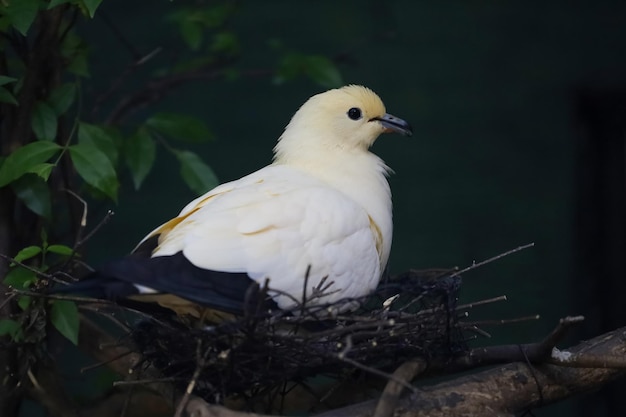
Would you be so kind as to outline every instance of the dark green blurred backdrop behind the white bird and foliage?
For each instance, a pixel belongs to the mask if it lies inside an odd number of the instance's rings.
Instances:
[[[109,88],[133,49],[162,48],[121,95],[183,54],[179,29],[164,22],[185,4],[104,1],[82,30],[86,93]],[[181,84],[150,107],[208,124],[215,140],[191,148],[221,182],[268,164],[291,115],[326,89],[277,79],[281,56],[326,56],[343,83],[372,88],[414,128],[374,146],[395,171],[392,273],[463,268],[534,242],[464,275],[462,302],[508,298],[472,319],[541,316],[487,327],[493,337],[477,343],[537,341],[567,315],[587,318],[568,343],[626,324],[626,2],[238,2],[228,27],[232,77]],[[90,242],[93,264],[125,255],[195,196],[173,156],[159,150],[155,167],[137,192],[124,179],[119,206],[90,213],[116,213]],[[624,388],[533,413],[626,415]]]

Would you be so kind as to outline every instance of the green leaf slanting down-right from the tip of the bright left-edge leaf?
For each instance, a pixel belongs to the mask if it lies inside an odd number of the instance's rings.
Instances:
[[[107,156],[94,145],[80,143],[70,146],[74,168],[85,182],[117,202],[117,174]]]

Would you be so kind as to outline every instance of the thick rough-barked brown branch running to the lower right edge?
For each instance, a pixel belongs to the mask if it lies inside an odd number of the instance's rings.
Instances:
[[[626,327],[583,342],[573,355],[620,358],[626,354]],[[626,374],[624,368],[571,368],[512,363],[499,368],[424,387],[403,397],[396,417],[505,417],[596,390]],[[375,401],[318,414],[317,417],[367,417]]]

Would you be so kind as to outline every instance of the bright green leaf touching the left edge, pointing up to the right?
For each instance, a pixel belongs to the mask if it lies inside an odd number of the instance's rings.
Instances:
[[[0,166],[0,187],[16,180],[37,165],[46,162],[61,146],[48,141],[24,145],[10,154]]]

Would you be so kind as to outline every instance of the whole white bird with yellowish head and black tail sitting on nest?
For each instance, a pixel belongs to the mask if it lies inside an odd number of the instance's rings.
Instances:
[[[250,284],[266,280],[280,309],[303,297],[327,305],[369,294],[392,239],[390,169],[369,148],[392,131],[412,134],[368,88],[311,97],[279,138],[271,165],[187,204],[133,255],[82,281],[83,292],[194,316],[199,306],[240,313]],[[320,294],[319,287],[327,288]]]

